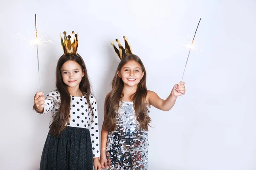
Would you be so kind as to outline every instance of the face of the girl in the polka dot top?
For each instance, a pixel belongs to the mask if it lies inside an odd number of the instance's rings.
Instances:
[[[70,88],[79,88],[79,83],[84,77],[84,70],[75,61],[66,61],[61,67],[63,82]]]

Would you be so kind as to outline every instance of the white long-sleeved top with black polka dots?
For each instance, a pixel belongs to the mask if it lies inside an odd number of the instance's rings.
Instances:
[[[85,96],[80,96],[80,97],[70,96],[70,97],[71,97],[70,121],[68,123],[68,126],[89,129],[90,137],[92,141],[93,157],[94,158],[99,157],[100,156],[99,125],[98,125],[98,110],[97,110],[96,99],[94,96],[90,95],[89,102],[92,106],[91,108],[93,110],[93,113],[92,113]],[[49,94],[47,94],[47,97],[45,99],[44,113],[58,112],[60,108],[60,103],[61,103],[61,99],[60,99],[59,92],[57,90],[51,91]],[[35,111],[35,108],[33,108],[33,110]]]

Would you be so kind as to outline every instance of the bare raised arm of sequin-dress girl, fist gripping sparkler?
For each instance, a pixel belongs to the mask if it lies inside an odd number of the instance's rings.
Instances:
[[[162,111],[169,111],[174,106],[177,96],[185,94],[185,83],[180,82],[172,88],[171,94],[164,100],[161,99],[154,91],[147,91],[147,98],[150,105]]]

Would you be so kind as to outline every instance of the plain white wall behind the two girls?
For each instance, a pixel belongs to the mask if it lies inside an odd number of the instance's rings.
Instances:
[[[78,32],[100,126],[119,62],[110,42],[118,38],[124,44],[122,36],[127,36],[146,67],[148,89],[166,98],[182,77],[189,51],[182,44],[190,43],[202,17],[195,37],[202,51],[193,50],[189,57],[186,94],[171,111],[151,110],[148,169],[256,169],[255,0],[71,2],[0,2],[1,170],[38,170],[48,132],[50,118],[32,113],[39,91],[36,48],[29,44],[35,13],[38,37],[53,42],[38,47],[41,90],[46,94],[55,88],[59,33]]]

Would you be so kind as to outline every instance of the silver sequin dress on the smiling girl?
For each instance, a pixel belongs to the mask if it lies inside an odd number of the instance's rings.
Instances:
[[[116,113],[116,125],[117,130],[108,134],[108,170],[147,170],[148,132],[139,129],[133,102],[122,101]]]

